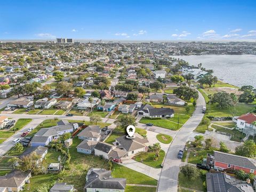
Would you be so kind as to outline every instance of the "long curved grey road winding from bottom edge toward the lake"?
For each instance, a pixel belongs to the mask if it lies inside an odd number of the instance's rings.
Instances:
[[[202,114],[203,106],[206,106],[203,95],[198,91],[196,109],[193,115],[182,126],[176,134],[170,145],[164,160],[164,166],[158,181],[158,192],[176,192],[178,191],[178,175],[181,160],[177,158],[180,149],[186,145],[189,135],[196,129],[201,122],[204,114]]]

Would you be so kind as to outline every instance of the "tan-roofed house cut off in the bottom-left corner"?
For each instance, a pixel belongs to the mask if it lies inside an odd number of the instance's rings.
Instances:
[[[13,170],[4,176],[0,176],[0,188],[6,188],[5,191],[18,192],[23,189],[26,181],[31,178],[31,173]]]

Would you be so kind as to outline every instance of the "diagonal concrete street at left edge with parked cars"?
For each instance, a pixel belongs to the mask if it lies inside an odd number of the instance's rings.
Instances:
[[[27,115],[28,118],[28,115]],[[36,127],[39,125],[44,119],[33,119],[29,124],[27,124],[25,127],[23,127],[21,130],[17,131],[15,134],[12,135],[9,139],[5,140],[1,145],[0,145],[0,157],[3,156],[7,151],[9,151],[14,144],[12,144],[12,141],[17,138],[22,138],[20,135],[21,133],[27,131],[29,127]]]

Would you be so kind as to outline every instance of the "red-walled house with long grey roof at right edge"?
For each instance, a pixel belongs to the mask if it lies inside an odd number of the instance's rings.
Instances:
[[[243,170],[256,175],[256,161],[253,158],[213,151],[213,156],[207,155],[207,162],[211,162],[216,169]]]

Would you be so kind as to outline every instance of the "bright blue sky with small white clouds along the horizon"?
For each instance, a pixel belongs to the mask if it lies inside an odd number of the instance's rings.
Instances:
[[[256,39],[256,1],[1,0],[0,39]]]

